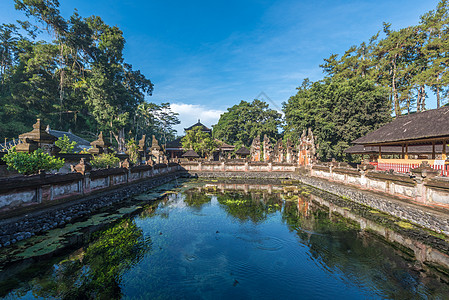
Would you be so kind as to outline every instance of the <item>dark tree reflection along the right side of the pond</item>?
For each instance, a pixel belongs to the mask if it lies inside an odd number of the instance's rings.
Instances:
[[[335,214],[329,216],[327,210],[315,204],[310,203],[307,214],[298,208],[298,203],[286,202],[283,220],[308,245],[310,256],[326,269],[342,272],[355,285],[374,287],[381,297],[400,295],[411,299],[417,292],[424,292],[421,282],[430,279],[422,279],[413,271],[410,257],[360,231],[353,221]],[[437,284],[442,291],[448,291],[447,286]]]

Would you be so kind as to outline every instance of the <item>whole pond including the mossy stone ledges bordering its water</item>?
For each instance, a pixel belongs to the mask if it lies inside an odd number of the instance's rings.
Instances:
[[[449,297],[444,236],[297,182],[180,183],[2,248],[0,297]]]

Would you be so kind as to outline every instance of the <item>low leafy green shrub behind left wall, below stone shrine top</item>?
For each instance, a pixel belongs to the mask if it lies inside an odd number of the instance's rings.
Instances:
[[[16,170],[20,174],[37,174],[39,170],[59,170],[64,166],[64,159],[55,158],[37,149],[33,153],[17,152],[14,148],[2,158],[8,169]]]

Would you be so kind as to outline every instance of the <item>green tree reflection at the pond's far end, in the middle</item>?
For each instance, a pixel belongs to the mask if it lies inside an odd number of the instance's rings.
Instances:
[[[261,222],[282,208],[282,201],[278,195],[268,193],[251,192],[245,195],[225,192],[217,195],[217,200],[229,215],[243,222]]]

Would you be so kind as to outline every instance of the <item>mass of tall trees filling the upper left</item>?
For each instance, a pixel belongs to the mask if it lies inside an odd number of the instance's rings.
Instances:
[[[91,139],[106,131],[120,152],[125,134],[174,138],[179,120],[169,103],[145,101],[153,83],[126,63],[120,28],[76,11],[66,19],[57,0],[14,2],[27,19],[0,25],[0,136],[15,138],[40,118]],[[37,40],[42,25],[52,41]]]

